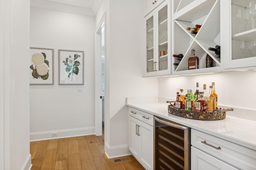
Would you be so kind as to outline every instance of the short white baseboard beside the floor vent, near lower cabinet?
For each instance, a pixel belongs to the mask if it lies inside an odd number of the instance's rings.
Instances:
[[[131,152],[128,145],[110,147],[107,143],[105,143],[105,154],[109,159],[111,159],[131,155]]]

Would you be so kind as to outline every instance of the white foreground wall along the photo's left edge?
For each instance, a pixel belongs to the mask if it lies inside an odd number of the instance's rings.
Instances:
[[[0,169],[28,170],[30,0],[0,0]]]

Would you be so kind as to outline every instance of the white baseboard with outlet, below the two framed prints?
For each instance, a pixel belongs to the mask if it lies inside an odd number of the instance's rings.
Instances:
[[[56,136],[52,136],[55,134]],[[30,141],[42,141],[47,139],[59,139],[65,137],[75,137],[95,134],[95,127],[86,127],[78,129],[65,129],[60,131],[46,131],[30,133]]]

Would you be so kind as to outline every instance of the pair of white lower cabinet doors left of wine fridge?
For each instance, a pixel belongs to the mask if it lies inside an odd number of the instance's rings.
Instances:
[[[144,119],[147,121],[147,118]],[[153,147],[153,126],[130,115],[129,150],[147,170],[153,169]]]

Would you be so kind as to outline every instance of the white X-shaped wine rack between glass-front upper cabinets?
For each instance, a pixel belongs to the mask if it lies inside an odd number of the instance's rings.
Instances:
[[[220,0],[174,0],[172,49],[173,54],[182,53],[181,61],[174,58],[173,74],[193,74],[221,70],[221,60],[215,57],[209,47],[220,45]],[[191,34],[187,27],[202,25],[197,34]],[[192,49],[199,58],[199,69],[188,70],[188,59]],[[206,68],[206,55],[210,55],[213,67]]]

